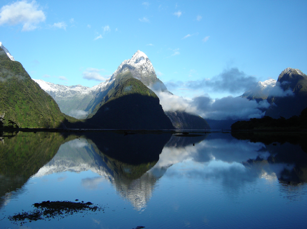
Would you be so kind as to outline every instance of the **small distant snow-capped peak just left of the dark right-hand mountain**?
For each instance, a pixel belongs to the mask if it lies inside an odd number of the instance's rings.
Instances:
[[[275,87],[276,80],[268,79],[266,81],[259,81],[252,89],[246,91],[240,97],[247,98],[249,100],[255,99],[257,102],[268,98],[271,90]]]

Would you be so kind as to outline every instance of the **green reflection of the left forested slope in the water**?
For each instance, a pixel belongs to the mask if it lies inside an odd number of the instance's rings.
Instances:
[[[3,133],[1,138],[0,207],[4,199],[20,189],[56,154],[65,141],[59,133],[43,132]]]

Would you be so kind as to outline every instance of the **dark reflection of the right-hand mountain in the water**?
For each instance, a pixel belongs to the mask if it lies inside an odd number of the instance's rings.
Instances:
[[[266,144],[266,158],[249,159],[244,164],[254,169],[275,173],[282,182],[307,182],[306,135],[286,133],[233,133],[238,139]]]

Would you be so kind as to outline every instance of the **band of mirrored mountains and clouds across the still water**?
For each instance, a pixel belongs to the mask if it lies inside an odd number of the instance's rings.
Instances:
[[[299,138],[289,137],[290,143],[284,136],[270,140],[229,133],[15,133],[0,143],[0,208],[25,191],[31,176],[89,170],[97,176],[82,178],[85,189],[110,182],[137,211],[146,209],[162,177],[221,181],[223,192],[232,196],[259,179],[278,180],[280,192],[296,199],[307,181],[305,138]]]

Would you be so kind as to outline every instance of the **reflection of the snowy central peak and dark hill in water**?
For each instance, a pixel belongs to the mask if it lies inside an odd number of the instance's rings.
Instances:
[[[137,210],[146,207],[157,177],[146,173],[159,160],[170,134],[88,133],[61,145],[54,158],[36,176],[91,170],[110,181]],[[83,179],[95,186],[100,177]]]

